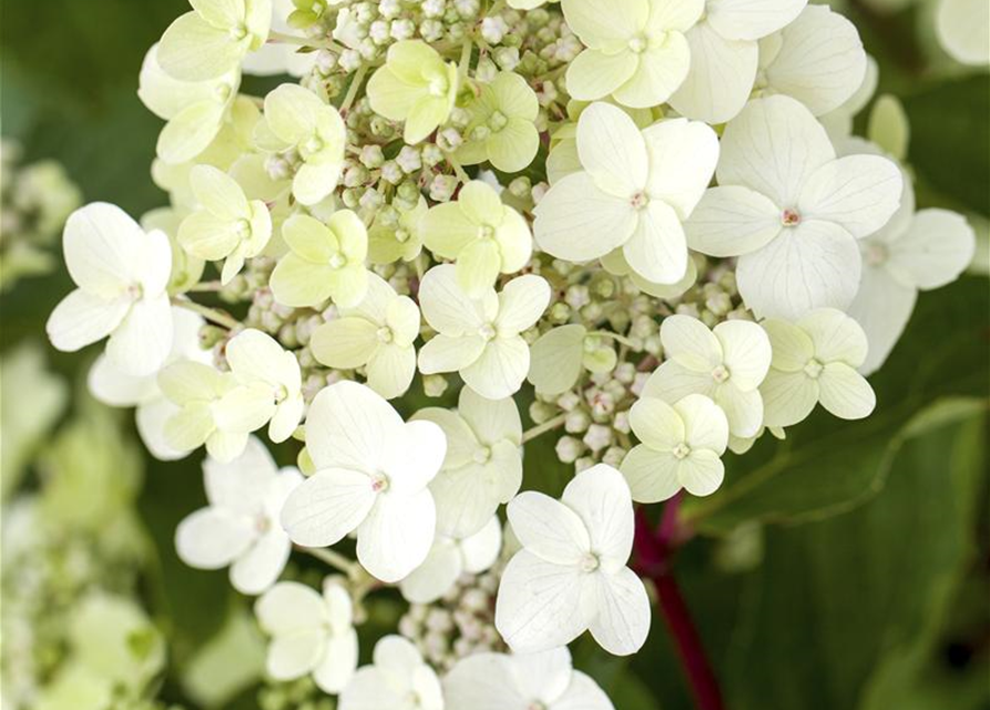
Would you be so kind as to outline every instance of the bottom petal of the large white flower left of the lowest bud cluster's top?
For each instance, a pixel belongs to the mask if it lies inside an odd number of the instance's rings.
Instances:
[[[426,559],[436,528],[437,508],[429,490],[380,495],[358,528],[358,560],[381,581],[398,581]]]

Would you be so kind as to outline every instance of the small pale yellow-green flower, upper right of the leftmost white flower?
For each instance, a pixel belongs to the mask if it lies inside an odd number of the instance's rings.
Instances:
[[[221,283],[228,284],[272,237],[272,214],[262,200],[248,201],[237,181],[212,165],[190,171],[201,209],[182,221],[178,243],[198,258],[224,261]]]

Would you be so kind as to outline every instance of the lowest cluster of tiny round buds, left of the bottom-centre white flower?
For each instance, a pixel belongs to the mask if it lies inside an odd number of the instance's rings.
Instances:
[[[504,651],[494,627],[494,599],[501,570],[461,575],[441,599],[410,605],[399,620],[399,633],[412,641],[438,670],[484,651]]]

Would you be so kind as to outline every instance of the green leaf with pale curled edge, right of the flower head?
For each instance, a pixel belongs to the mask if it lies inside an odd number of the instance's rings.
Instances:
[[[986,406],[988,307],[987,282],[981,278],[921,294],[901,342],[871,378],[877,410],[860,422],[818,410],[789,429],[785,442],[767,436],[746,455],[729,456],[722,489],[687,506],[693,525],[703,532],[724,534],[753,519],[816,520],[876,495],[905,440],[923,424],[914,420],[919,413],[946,397],[980,399],[952,405],[962,406],[963,415],[968,407]],[[952,414],[950,406],[927,416]]]

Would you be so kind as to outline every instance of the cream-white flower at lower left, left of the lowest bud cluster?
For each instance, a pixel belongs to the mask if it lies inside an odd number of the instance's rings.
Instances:
[[[262,630],[272,637],[265,668],[273,679],[313,676],[316,686],[338,693],[354,678],[358,638],[350,595],[333,578],[323,594],[295,581],[280,581],[255,602]]]

